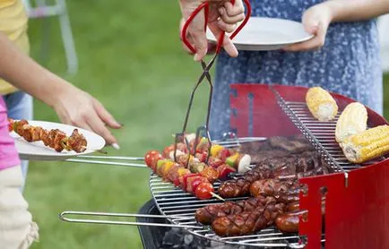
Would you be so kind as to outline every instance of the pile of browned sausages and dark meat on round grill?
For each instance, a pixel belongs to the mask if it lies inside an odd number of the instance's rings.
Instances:
[[[328,174],[331,168],[300,137],[271,138],[241,151],[251,154],[256,167],[223,182],[219,194],[223,198],[252,197],[205,206],[196,210],[195,219],[212,225],[218,236],[245,236],[272,225],[281,232],[297,233],[299,218],[307,218],[307,211],[298,207],[298,178]]]

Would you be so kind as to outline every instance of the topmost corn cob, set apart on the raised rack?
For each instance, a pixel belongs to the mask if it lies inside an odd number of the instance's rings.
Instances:
[[[331,94],[321,87],[310,88],[306,95],[307,107],[320,121],[329,121],[338,113],[338,105]]]

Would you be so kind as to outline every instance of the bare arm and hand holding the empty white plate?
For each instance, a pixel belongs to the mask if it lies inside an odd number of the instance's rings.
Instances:
[[[315,38],[284,48],[286,51],[315,50],[324,46],[332,22],[365,21],[389,13],[389,0],[329,0],[316,4],[303,14],[302,23]]]

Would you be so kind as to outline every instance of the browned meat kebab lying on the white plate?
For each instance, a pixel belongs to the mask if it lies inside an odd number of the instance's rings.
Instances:
[[[57,152],[73,150],[81,153],[87,149],[87,141],[82,133],[78,132],[78,129],[74,129],[70,136],[66,136],[64,132],[58,129],[48,131],[42,127],[30,125],[25,119],[16,121],[8,118],[8,122],[8,131],[19,134],[27,142],[42,141],[45,146]]]

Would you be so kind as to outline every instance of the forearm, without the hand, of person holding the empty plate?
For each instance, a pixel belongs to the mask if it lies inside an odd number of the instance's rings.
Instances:
[[[332,21],[365,21],[389,13],[389,0],[330,0]]]

